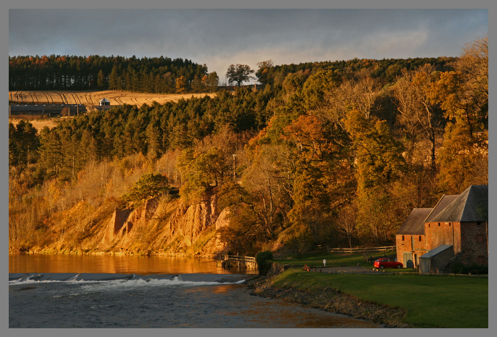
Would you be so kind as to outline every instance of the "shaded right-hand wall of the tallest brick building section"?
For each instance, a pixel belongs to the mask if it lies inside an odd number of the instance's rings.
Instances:
[[[461,251],[463,253],[462,263],[470,265],[478,263],[478,256],[483,256],[484,263],[489,263],[487,250],[487,225],[482,222],[480,226],[476,222],[462,222],[461,226]],[[477,235],[481,235],[483,242],[477,242]]]

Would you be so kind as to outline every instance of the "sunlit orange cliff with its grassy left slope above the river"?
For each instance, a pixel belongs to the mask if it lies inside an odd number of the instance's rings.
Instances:
[[[141,253],[214,257],[226,253],[220,228],[229,224],[229,211],[219,210],[217,195],[187,205],[179,198],[153,198],[126,208],[100,205],[83,232],[74,214],[88,211],[85,201],[51,218],[53,237],[39,252]],[[86,205],[87,206],[87,205]],[[78,219],[83,219],[80,214]],[[71,220],[72,219],[72,220]],[[64,228],[65,237],[62,237]]]

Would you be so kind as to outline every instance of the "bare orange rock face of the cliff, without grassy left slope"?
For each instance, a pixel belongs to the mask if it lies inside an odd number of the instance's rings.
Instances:
[[[166,206],[172,211],[169,217],[156,214]],[[147,250],[173,255],[188,255],[192,252],[185,250],[195,246],[190,250],[195,251],[196,256],[214,256],[226,253],[226,244],[219,240],[216,230],[229,224],[228,215],[228,210],[221,214],[218,211],[216,194],[192,205],[179,200],[160,204],[160,200],[154,198],[134,209],[115,209],[101,243],[107,250],[123,251],[147,242]],[[199,245],[202,247],[197,247]]]

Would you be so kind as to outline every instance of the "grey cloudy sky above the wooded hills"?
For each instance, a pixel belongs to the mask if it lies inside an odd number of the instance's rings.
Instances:
[[[487,9],[9,9],[8,52],[230,64],[459,56]],[[253,83],[253,82],[252,82]]]

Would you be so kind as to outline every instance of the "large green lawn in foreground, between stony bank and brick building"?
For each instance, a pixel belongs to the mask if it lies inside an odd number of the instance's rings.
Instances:
[[[418,327],[488,328],[488,278],[341,275],[289,269],[276,276],[274,285],[302,289],[331,285],[361,300],[404,308],[405,322]]]

